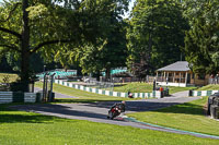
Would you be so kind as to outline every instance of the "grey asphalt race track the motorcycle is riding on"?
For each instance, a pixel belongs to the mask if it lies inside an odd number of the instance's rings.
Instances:
[[[184,94],[184,93],[180,93]],[[180,96],[180,97],[178,97]],[[169,107],[172,105],[183,104],[187,101],[192,101],[198,99],[199,97],[182,97],[178,96],[170,96],[161,99],[140,99],[126,101],[126,113],[136,112],[136,111],[149,111],[155,110],[159,108]],[[71,98],[73,96],[66,96],[62,94],[56,93],[56,98]],[[153,124],[148,124],[143,122],[138,122],[135,119],[125,118],[125,116],[118,117],[115,120],[108,120],[107,111],[110,107],[116,101],[101,101],[101,102],[90,102],[90,104],[56,104],[56,105],[25,105],[25,106],[13,106],[12,108],[25,111],[33,111],[37,113],[43,113],[47,116],[56,116],[60,118],[68,119],[78,119],[78,120],[88,120],[93,122],[102,122],[108,124],[117,124],[117,125],[127,125],[140,129],[149,129],[164,132],[172,132],[178,134],[189,134],[198,137],[210,137],[218,138],[219,136],[209,136],[206,134],[191,133],[174,129],[166,129],[163,126],[154,126]]]

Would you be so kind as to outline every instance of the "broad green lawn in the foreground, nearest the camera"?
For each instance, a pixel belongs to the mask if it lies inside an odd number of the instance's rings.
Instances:
[[[0,105],[1,145],[218,145],[218,140],[9,110]]]

